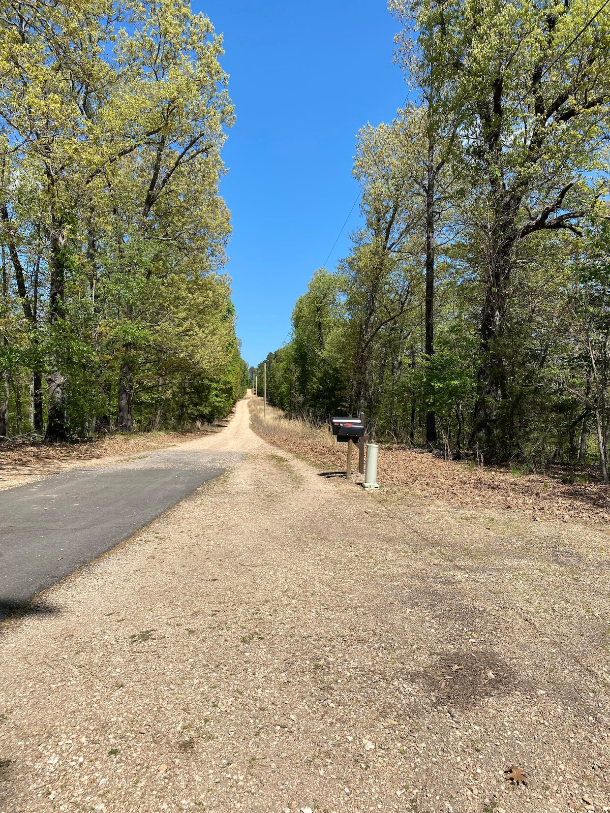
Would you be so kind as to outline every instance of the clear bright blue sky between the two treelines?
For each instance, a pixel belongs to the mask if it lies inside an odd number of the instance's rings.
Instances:
[[[237,123],[224,147],[232,213],[227,271],[242,356],[290,338],[290,313],[358,194],[355,135],[389,121],[407,87],[385,0],[192,0],[224,34]],[[328,267],[345,256],[352,212]]]

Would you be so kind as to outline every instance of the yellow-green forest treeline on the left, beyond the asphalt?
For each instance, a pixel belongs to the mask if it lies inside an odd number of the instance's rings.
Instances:
[[[244,392],[222,53],[185,0],[2,3],[0,436],[181,427]]]

